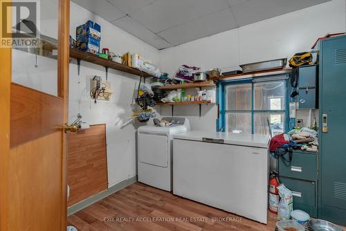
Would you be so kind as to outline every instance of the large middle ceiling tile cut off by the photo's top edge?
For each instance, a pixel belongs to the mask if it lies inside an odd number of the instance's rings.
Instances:
[[[154,33],[228,8],[226,0],[157,0],[131,14]]]

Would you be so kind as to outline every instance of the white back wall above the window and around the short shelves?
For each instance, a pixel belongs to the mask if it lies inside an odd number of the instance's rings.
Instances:
[[[181,64],[201,66],[203,71],[215,67],[226,71],[239,64],[289,58],[309,51],[318,37],[345,30],[345,0],[332,0],[161,50],[161,69],[172,76]],[[202,118],[198,117],[197,108],[175,107],[174,115],[187,115],[192,129],[215,129],[216,106],[203,106]],[[308,114],[301,113],[301,117],[308,120],[304,118]],[[170,107],[162,107],[161,115],[171,115]]]

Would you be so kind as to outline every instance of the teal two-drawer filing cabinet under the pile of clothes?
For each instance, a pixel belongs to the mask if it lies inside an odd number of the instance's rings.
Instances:
[[[293,150],[291,163],[279,159],[280,183],[292,191],[293,209],[318,216],[318,153]]]

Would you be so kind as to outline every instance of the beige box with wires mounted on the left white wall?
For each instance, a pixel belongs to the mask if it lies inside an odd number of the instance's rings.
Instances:
[[[100,80],[90,80],[90,95],[93,100],[110,100],[113,89],[111,82]]]

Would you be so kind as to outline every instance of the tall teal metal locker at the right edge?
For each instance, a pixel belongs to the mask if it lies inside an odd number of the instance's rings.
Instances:
[[[346,35],[320,41],[318,214],[346,225]]]

